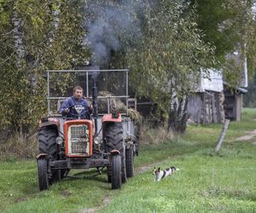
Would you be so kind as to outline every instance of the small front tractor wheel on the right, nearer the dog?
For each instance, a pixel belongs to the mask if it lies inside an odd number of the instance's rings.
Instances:
[[[111,158],[111,187],[117,189],[121,184],[121,156],[117,154]]]

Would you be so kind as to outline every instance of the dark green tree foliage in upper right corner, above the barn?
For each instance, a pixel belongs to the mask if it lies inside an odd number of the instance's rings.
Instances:
[[[247,61],[249,76],[255,63],[254,0],[188,0],[197,11],[197,24],[204,33],[203,40],[215,48],[218,68],[230,84],[241,83],[241,71]],[[249,44],[249,45],[248,45]],[[232,56],[235,53],[238,56]]]

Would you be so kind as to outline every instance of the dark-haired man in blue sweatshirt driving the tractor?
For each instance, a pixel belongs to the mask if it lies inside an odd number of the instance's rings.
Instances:
[[[67,98],[67,100],[61,104],[61,114],[63,116],[67,116],[67,118],[78,118],[77,111],[75,110],[74,106],[80,106],[83,108],[81,118],[90,119],[90,114],[93,107],[84,99],[83,88],[80,86],[75,86],[73,88],[73,96]]]

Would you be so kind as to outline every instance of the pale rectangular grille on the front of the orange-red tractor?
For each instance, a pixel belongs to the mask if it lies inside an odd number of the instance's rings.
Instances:
[[[68,127],[68,153],[84,155],[89,153],[89,130],[85,124]]]

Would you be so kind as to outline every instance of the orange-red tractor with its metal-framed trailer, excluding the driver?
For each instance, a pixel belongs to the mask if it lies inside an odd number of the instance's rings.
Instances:
[[[67,177],[69,170],[72,169],[96,168],[101,173],[107,168],[108,181],[111,182],[113,189],[121,187],[127,177],[133,176],[138,140],[136,124],[127,113],[128,72],[128,70],[47,72],[49,115],[41,119],[38,132],[37,161],[40,191],[48,189],[53,182]],[[125,83],[119,81],[121,73],[123,74],[121,79],[126,78]],[[76,118],[66,118],[58,113],[61,101],[67,98],[61,95],[67,95],[68,89],[71,88],[63,82],[84,85],[86,96],[92,99],[94,107],[90,119],[81,119],[81,106],[72,106],[77,112]],[[104,83],[107,83],[107,86],[103,86]],[[98,96],[97,84],[101,89],[111,90],[112,93]],[[125,95],[112,95],[113,89],[118,89],[117,92],[125,89]],[[115,102],[114,106],[112,102]],[[118,105],[122,106],[121,109]]]

